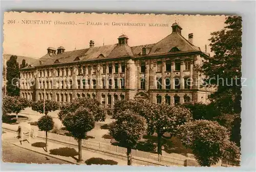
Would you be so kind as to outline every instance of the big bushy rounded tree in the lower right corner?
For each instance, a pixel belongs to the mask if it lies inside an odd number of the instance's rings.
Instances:
[[[216,121],[195,120],[178,128],[177,136],[192,149],[201,166],[215,165],[221,158],[238,159],[240,150],[229,140],[229,132]]]

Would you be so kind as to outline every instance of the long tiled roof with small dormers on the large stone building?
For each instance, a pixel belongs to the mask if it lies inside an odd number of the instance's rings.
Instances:
[[[146,56],[161,56],[161,55],[172,55],[180,53],[191,53],[191,52],[201,52],[200,48],[190,43],[181,34],[173,32],[172,34],[166,36],[162,40],[153,44],[139,45],[130,47],[127,44],[112,44],[103,45],[97,47],[85,48],[82,50],[74,50],[69,52],[63,52],[61,54],[46,54],[38,59],[32,66],[45,66],[52,64],[63,64],[63,63],[75,63],[78,61],[93,61],[93,60],[103,60],[103,59],[117,59],[124,57],[140,58],[142,48],[145,47],[147,50]],[[179,51],[170,51],[172,48],[176,47]],[[201,52],[203,53],[203,52]],[[203,53],[204,55],[208,55]],[[58,63],[55,61],[58,59]],[[75,60],[76,59],[76,60]],[[41,64],[39,63],[41,60]],[[55,63],[54,63],[55,62]],[[28,67],[25,67],[28,68]],[[24,69],[25,69],[24,68]]]

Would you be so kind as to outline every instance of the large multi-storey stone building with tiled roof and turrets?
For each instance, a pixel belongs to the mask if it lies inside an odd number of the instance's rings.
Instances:
[[[90,96],[105,108],[120,99],[147,99],[156,103],[207,102],[206,88],[200,87],[204,53],[181,35],[178,23],[172,33],[154,44],[129,46],[126,35],[113,45],[94,46],[65,52],[60,46],[33,65],[20,69],[20,96],[34,101],[46,99],[70,102]],[[32,82],[31,82],[32,81]]]

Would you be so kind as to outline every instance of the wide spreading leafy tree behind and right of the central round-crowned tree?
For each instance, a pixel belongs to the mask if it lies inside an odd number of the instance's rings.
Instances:
[[[172,138],[177,132],[177,127],[192,118],[187,108],[170,106],[167,104],[156,104],[148,101],[122,100],[114,105],[114,114],[118,117],[125,110],[138,113],[146,119],[147,134],[157,133],[157,152],[162,154],[162,137]],[[165,137],[164,133],[170,133]]]

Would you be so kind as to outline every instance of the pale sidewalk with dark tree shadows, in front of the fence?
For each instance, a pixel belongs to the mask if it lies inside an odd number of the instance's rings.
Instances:
[[[71,148],[66,145],[48,141],[47,153],[45,152],[45,139],[31,138],[30,143],[24,139],[23,144],[21,144],[19,139],[16,139],[15,136],[14,133],[6,132],[2,135],[2,140],[33,152],[77,164],[78,148]],[[127,165],[127,161],[86,150],[82,150],[82,159],[83,162],[80,164]],[[133,163],[133,166],[141,165]]]

